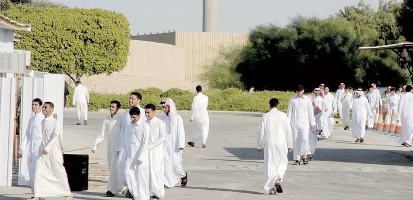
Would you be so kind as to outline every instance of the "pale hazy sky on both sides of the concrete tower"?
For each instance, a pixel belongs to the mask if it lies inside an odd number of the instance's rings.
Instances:
[[[52,0],[70,8],[102,8],[123,14],[132,35],[201,32],[203,0]],[[374,10],[379,0],[363,0]],[[359,0],[218,0],[218,32],[249,33],[258,25],[284,27],[291,19],[327,18]]]

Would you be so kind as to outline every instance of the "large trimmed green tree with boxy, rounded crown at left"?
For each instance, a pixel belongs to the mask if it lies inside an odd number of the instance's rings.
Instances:
[[[17,32],[17,49],[32,52],[30,70],[83,75],[119,72],[127,62],[130,29],[119,13],[102,9],[12,6],[3,12],[32,32]]]

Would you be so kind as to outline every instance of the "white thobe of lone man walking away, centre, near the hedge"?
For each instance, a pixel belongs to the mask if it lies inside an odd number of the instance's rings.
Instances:
[[[198,144],[206,144],[209,132],[209,116],[208,116],[209,99],[202,92],[193,97],[191,116],[193,120],[192,141]]]

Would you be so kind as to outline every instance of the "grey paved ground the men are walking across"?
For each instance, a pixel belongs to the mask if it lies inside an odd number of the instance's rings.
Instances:
[[[76,126],[75,111],[66,110],[64,150],[90,155],[89,189],[73,192],[76,200],[127,200],[120,195],[102,196],[108,178],[105,142],[95,154],[90,151],[107,113],[89,112],[89,125]],[[189,141],[189,112],[180,113]],[[314,162],[293,165],[292,152],[289,153],[289,166],[282,182],[284,193],[267,195],[262,189],[263,154],[255,149],[260,120],[257,116],[241,112],[210,115],[207,148],[187,145],[183,153],[183,166],[189,177],[187,187],[166,189],[164,199],[413,199],[412,148],[398,144],[397,135],[374,131],[366,131],[364,143],[354,143],[351,131],[344,131],[339,124],[334,127],[332,138],[317,143]],[[0,200],[31,196],[28,187],[0,187]]]

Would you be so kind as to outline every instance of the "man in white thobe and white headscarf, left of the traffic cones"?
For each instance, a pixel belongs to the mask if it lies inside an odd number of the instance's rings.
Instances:
[[[373,115],[370,110],[370,106],[367,98],[361,89],[357,89],[356,94],[348,106],[352,113],[351,118],[351,133],[353,138],[357,138],[355,141],[364,142],[364,133],[366,131],[366,119],[367,117],[372,118]]]

